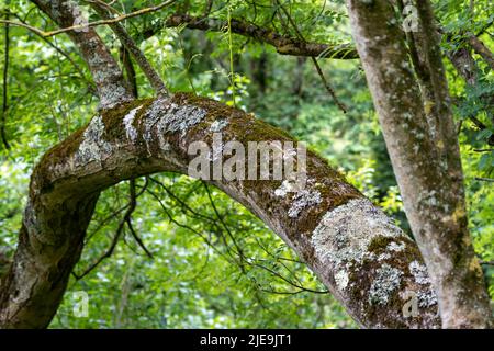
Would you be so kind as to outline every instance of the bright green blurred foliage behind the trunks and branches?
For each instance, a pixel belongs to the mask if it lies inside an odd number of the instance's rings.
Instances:
[[[114,8],[130,13],[159,2],[122,0]],[[489,2],[439,0],[434,4],[445,57],[447,52],[465,48],[475,64],[474,83],[469,84],[445,58],[460,133],[470,229],[494,298],[494,72],[469,44],[474,33],[494,48]],[[280,55],[273,46],[232,33],[228,26],[222,31],[166,26],[170,15],[187,13],[226,23],[242,20],[307,42],[351,44],[344,1],[224,0],[211,1],[211,9],[207,3],[176,1],[124,25],[172,91],[192,91],[254,111],[306,140],[406,229],[358,60],[318,58],[338,101],[347,106],[345,113],[328,95],[310,58]],[[99,19],[81,4],[90,22]],[[0,10],[10,13],[11,20],[44,31],[56,29],[29,1],[13,1]],[[149,31],[156,34],[145,37]],[[113,33],[105,26],[98,32],[113,44],[117,57],[121,48]],[[7,86],[1,87],[2,92],[7,89],[4,126],[10,144],[9,149],[4,145],[0,149],[0,254],[5,258],[15,248],[34,165],[50,146],[87,124],[98,105],[89,71],[66,35],[42,38],[9,26],[9,41],[7,45],[5,36],[0,37],[2,65],[5,55],[10,58]],[[138,94],[151,95],[144,73],[136,70]],[[123,182],[100,196],[82,259],[52,327],[356,327],[279,238],[215,188],[173,173],[138,179],[136,210],[123,222],[130,186]],[[122,234],[113,253],[87,272],[112,246],[119,227]],[[72,310],[74,293],[80,291],[90,298],[89,316],[83,318]]]

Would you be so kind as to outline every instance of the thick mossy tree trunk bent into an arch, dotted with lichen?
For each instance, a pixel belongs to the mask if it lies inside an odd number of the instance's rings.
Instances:
[[[160,171],[187,173],[188,146],[292,140],[252,115],[189,94],[106,110],[50,149],[34,169],[14,262],[0,293],[0,327],[47,327],[77,263],[100,192]],[[436,296],[417,246],[325,160],[307,154],[307,185],[212,181],[278,234],[348,313],[374,328],[439,327]],[[412,296],[412,297],[411,297]],[[418,314],[404,314],[416,298]],[[406,310],[405,310],[406,312]]]

